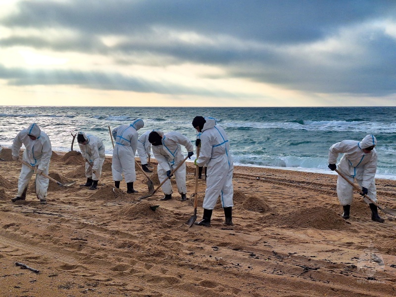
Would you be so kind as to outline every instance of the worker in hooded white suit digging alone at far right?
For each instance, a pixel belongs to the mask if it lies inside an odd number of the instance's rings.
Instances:
[[[356,179],[362,188],[362,196],[368,195],[374,202],[377,202],[377,190],[375,188],[375,172],[377,171],[377,151],[375,146],[377,139],[374,135],[366,135],[362,141],[343,140],[336,143],[329,149],[329,168],[335,170],[339,153],[344,153],[338,163],[338,170],[341,171],[352,183]],[[340,204],[344,208],[342,217],[348,219],[350,215],[350,205],[352,204],[353,187],[342,176],[337,179],[337,196]],[[371,219],[383,223],[378,215],[377,206],[370,200],[364,198],[371,209]]]

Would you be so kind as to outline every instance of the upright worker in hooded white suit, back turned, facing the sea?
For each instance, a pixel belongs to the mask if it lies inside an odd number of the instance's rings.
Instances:
[[[122,173],[124,173],[128,194],[138,193],[133,188],[133,183],[136,181],[135,153],[138,148],[138,130],[144,125],[142,119],[136,119],[130,125],[118,126],[111,132],[115,140],[111,164],[114,186],[120,187]]]

